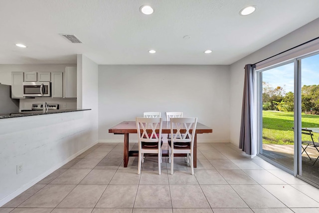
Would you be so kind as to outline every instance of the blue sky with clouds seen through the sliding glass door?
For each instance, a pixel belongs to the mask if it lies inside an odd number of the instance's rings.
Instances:
[[[302,59],[301,64],[302,86],[319,85],[319,54]],[[263,81],[283,87],[286,93],[294,92],[294,63],[264,71]]]

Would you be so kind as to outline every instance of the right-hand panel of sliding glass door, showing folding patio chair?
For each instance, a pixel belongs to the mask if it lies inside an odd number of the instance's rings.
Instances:
[[[316,162],[319,156],[319,54],[302,58],[299,64],[302,112],[299,175],[319,185],[319,161]]]

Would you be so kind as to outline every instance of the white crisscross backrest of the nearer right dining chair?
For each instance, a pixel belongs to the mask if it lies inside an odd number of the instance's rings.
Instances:
[[[171,140],[174,142],[191,142],[194,145],[197,118],[170,118]],[[176,132],[174,132],[174,129]]]

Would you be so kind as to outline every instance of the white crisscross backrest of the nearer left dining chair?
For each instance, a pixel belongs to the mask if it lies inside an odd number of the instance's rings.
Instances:
[[[138,141],[159,142],[161,141],[162,118],[136,118]],[[159,133],[156,133],[156,130]]]

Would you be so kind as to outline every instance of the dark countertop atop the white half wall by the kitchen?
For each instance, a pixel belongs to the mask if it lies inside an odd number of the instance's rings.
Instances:
[[[65,113],[65,112],[78,112],[78,111],[86,111],[91,109],[57,109],[57,110],[49,110],[48,112],[43,113],[42,110],[35,111],[25,111],[25,112],[16,112],[9,114],[0,114],[0,119],[3,118],[17,118],[17,117],[25,117],[25,116],[34,116],[34,115],[47,115],[47,114],[56,114],[56,113]]]

